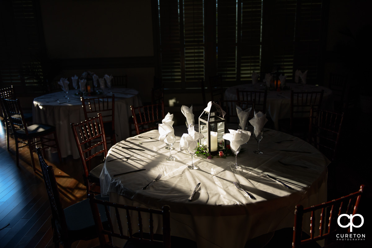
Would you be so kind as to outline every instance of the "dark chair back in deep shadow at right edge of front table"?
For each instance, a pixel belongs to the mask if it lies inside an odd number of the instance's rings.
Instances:
[[[340,142],[344,113],[335,113],[310,107],[308,142],[334,160]]]

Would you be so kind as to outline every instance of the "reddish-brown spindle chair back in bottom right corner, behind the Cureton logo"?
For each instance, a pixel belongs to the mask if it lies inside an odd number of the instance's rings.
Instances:
[[[321,239],[326,239],[327,242],[331,242],[330,239],[334,238],[332,236],[340,229],[337,224],[339,216],[343,214],[347,215],[347,217],[342,218],[341,216],[340,218],[341,225],[345,226],[347,223],[350,224],[350,221],[352,221],[349,219],[349,216],[357,213],[363,188],[364,185],[361,185],[360,189],[355,193],[316,206],[311,206],[309,208],[297,205],[295,209],[292,248],[298,248],[301,247],[302,244],[315,242]],[[307,220],[310,221],[309,238],[301,237],[302,222],[304,218],[308,218]],[[355,221],[355,219],[357,218],[353,218],[353,221]],[[318,231],[315,231],[315,222],[317,221],[319,222],[319,229]],[[350,232],[350,228],[348,229],[348,232]]]

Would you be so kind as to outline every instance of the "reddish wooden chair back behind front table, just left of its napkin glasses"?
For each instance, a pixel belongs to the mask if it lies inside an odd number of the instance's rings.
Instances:
[[[131,106],[136,133],[141,134],[158,128],[164,118],[164,102],[140,107]]]

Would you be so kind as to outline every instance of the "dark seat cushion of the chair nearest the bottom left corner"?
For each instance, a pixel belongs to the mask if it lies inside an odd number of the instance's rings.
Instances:
[[[95,196],[96,199],[109,200],[108,197]],[[108,221],[105,214],[105,208],[98,205],[102,225],[108,228]],[[73,240],[89,240],[97,237],[94,224],[92,209],[89,199],[82,200],[64,209],[68,235]],[[83,238],[84,237],[84,238]]]

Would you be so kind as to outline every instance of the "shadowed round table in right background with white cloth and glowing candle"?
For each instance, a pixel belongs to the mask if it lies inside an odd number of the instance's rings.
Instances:
[[[321,91],[324,89],[323,100],[321,108],[324,110],[333,111],[333,94],[332,90],[315,85],[302,85],[295,83],[287,83],[287,87],[295,92],[299,91]],[[242,91],[257,91],[264,90],[263,86],[255,86],[253,84],[242,84],[227,88],[225,91],[225,100],[237,100],[236,91],[240,89]],[[266,98],[266,112],[270,115],[274,122],[276,130],[279,130],[279,120],[289,118],[291,116],[291,90],[283,91],[267,91]]]

